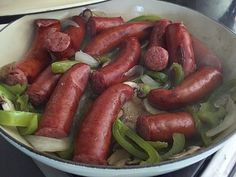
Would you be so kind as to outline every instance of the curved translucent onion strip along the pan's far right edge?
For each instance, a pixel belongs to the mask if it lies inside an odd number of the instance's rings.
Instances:
[[[224,120],[215,128],[210,129],[206,132],[206,136],[212,137],[215,136],[227,128],[231,127],[236,122],[236,105],[234,104],[234,101],[228,97],[228,102],[226,104],[226,112],[227,115],[225,116]]]

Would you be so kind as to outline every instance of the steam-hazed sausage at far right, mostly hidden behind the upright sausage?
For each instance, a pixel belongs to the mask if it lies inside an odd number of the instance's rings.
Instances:
[[[201,42],[199,39],[191,35],[193,43],[193,51],[198,67],[212,66],[218,71],[223,72],[223,67],[220,59]]]

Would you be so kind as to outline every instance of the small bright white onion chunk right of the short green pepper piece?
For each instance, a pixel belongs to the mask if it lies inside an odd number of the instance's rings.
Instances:
[[[86,63],[92,68],[98,67],[99,65],[99,62],[95,58],[81,50],[75,53],[75,60],[80,61],[81,63]]]

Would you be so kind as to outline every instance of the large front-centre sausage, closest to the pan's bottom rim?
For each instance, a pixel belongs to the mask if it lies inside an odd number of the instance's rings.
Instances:
[[[76,138],[74,161],[87,164],[107,164],[112,124],[123,104],[134,91],[125,84],[109,87],[93,103]]]

